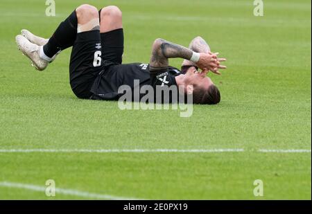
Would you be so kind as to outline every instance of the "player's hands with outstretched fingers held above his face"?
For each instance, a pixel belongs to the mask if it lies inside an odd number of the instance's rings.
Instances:
[[[220,75],[219,69],[226,69],[227,66],[221,65],[220,62],[225,62],[225,58],[218,58],[219,53],[200,53],[200,60],[196,65],[202,70],[209,70]]]

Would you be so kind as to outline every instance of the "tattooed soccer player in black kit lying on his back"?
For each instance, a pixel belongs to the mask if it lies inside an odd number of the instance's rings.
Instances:
[[[121,85],[128,85],[132,91],[144,85],[153,89],[166,85],[182,87],[180,93],[192,94],[193,103],[220,102],[220,92],[207,73],[220,74],[218,69],[226,68],[220,65],[225,59],[218,58],[218,53],[211,53],[201,37],[193,39],[189,48],[156,39],[149,64],[121,64],[123,25],[121,10],[116,6],[98,11],[84,4],[62,21],[50,39],[21,30],[16,42],[39,71],[46,69],[60,51],[72,46],[70,84],[78,98],[118,100],[123,95],[119,93]],[[175,57],[184,59],[182,71],[168,66],[168,59]],[[202,72],[198,72],[198,68]],[[134,80],[139,80],[139,84]],[[140,94],[140,98],[142,96],[144,94]]]

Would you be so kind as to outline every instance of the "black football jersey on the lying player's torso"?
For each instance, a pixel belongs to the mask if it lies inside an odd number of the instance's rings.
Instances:
[[[125,93],[119,91],[121,86],[127,86],[132,94],[140,91],[144,85],[150,85],[153,89],[165,85],[177,87],[175,76],[180,74],[180,70],[172,66],[168,66],[165,71],[150,72],[148,64],[144,63],[113,64],[99,73],[91,89],[94,94],[92,99],[118,100]],[[139,98],[144,95],[140,93]]]

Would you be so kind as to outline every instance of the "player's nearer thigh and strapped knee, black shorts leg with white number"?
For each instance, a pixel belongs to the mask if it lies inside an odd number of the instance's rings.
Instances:
[[[98,9],[83,5],[76,9],[78,27],[71,51],[69,78],[78,98],[90,98],[90,89],[102,71],[101,35]]]

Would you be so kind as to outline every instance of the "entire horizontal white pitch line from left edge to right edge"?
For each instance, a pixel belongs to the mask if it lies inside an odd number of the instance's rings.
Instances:
[[[177,149],[133,149],[133,150],[86,150],[86,149],[0,149],[0,153],[220,153],[220,152],[262,152],[262,153],[311,153],[311,150],[244,150],[244,149],[209,149],[209,150],[177,150]]]

